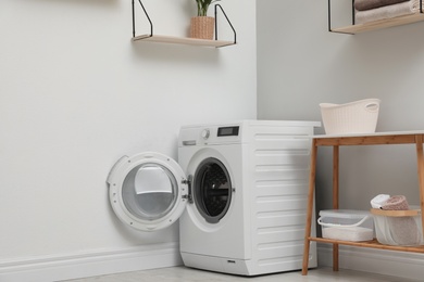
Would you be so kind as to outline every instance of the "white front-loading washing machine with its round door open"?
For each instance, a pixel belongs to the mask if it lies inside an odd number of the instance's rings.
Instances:
[[[317,121],[184,126],[178,163],[122,157],[109,177],[116,216],[155,231],[179,219],[185,266],[259,275],[302,268],[311,136]],[[310,267],[316,267],[311,244]]]

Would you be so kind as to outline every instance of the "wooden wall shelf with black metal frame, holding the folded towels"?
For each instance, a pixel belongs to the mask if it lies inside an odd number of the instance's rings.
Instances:
[[[420,4],[422,7],[422,1],[420,0]],[[356,35],[360,33],[392,27],[392,26],[400,26],[400,25],[408,25],[412,23],[423,22],[424,21],[424,13],[422,8],[420,9],[420,12],[411,15],[404,15],[404,16],[398,16],[398,17],[391,17],[387,20],[381,20],[364,24],[356,24],[354,23],[354,0],[352,0],[352,25],[345,26],[345,27],[338,27],[338,28],[332,28],[332,10],[331,10],[331,0],[328,0],[328,31],[332,33],[339,33],[339,34],[349,34],[349,35]]]

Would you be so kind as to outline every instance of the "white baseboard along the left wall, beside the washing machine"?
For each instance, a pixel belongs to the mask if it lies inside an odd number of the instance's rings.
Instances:
[[[1,282],[49,282],[180,266],[178,243],[0,261]]]

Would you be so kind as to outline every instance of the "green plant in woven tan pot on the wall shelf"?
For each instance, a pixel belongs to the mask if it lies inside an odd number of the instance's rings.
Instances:
[[[220,0],[195,0],[197,16],[191,17],[190,37],[199,39],[213,39],[214,17],[208,16],[209,5]]]

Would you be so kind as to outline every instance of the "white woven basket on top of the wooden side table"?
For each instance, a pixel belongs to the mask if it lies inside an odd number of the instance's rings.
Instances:
[[[365,99],[347,104],[321,103],[327,134],[375,132],[381,100]]]

